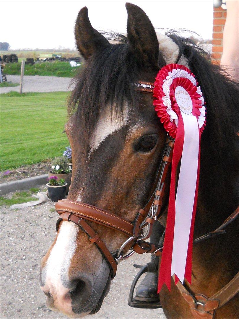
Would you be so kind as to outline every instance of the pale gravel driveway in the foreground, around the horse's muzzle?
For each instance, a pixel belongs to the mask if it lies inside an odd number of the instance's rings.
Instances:
[[[57,214],[50,211],[53,207],[50,201],[17,211],[1,207],[1,319],[67,318],[46,308],[38,283],[41,257],[56,234]],[[162,309],[127,305],[131,282],[138,271],[133,263],[148,261],[149,256],[135,254],[119,264],[101,310],[86,318],[165,318]]]

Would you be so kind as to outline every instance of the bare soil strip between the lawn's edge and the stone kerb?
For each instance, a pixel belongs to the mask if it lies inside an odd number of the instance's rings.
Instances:
[[[1,183],[17,181],[27,177],[47,174],[51,170],[51,161],[33,165],[24,165],[19,168],[0,172]]]

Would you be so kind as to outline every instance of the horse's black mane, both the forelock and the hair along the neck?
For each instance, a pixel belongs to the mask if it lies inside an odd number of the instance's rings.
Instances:
[[[202,89],[207,108],[203,140],[211,142],[214,155],[223,149],[226,153],[230,150],[231,157],[232,136],[239,131],[238,84],[226,76],[220,65],[213,64],[211,56],[192,40],[175,31],[167,35],[179,47],[176,63],[182,55],[186,56]],[[117,44],[111,44],[88,59],[86,67],[74,79],[75,88],[68,104],[69,115],[76,112],[76,124],[86,148],[97,118],[106,107],[110,105],[120,117],[124,101],[137,105],[139,98],[131,85],[139,80],[138,65],[131,55],[127,38],[118,33],[109,33],[108,37]]]

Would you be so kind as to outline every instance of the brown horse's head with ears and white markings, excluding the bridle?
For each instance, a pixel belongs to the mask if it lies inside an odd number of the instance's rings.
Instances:
[[[72,148],[68,198],[133,222],[145,204],[166,132],[153,108],[153,94],[131,84],[153,82],[165,62],[153,25],[139,7],[126,4],[127,39],[118,43],[96,31],[87,8],[78,13],[75,39],[86,63],[76,78],[65,130]],[[127,236],[89,222],[110,252]],[[78,226],[61,222],[41,262],[47,305],[69,316],[95,313],[109,291],[110,272],[99,250]]]

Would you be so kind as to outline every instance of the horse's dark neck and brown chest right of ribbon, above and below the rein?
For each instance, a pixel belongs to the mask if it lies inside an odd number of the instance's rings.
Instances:
[[[201,150],[195,238],[219,227],[235,211],[239,203],[239,192],[235,189],[239,180],[238,164],[235,167],[236,158],[232,157],[226,161],[228,155],[220,154],[220,150],[216,157],[210,145],[203,143]],[[226,234],[194,244],[192,274],[195,278],[200,278],[194,281],[196,287],[198,282],[202,285],[201,288],[206,287],[210,281],[213,281],[216,287],[214,280],[221,278],[222,273],[224,273],[223,279],[220,280],[227,284],[237,273],[238,222],[239,220],[235,220],[227,226]]]

